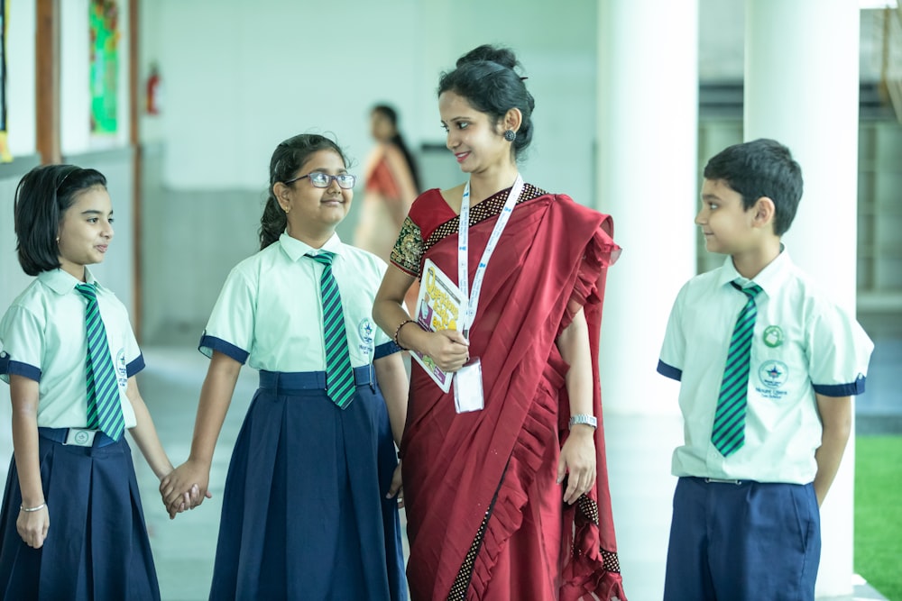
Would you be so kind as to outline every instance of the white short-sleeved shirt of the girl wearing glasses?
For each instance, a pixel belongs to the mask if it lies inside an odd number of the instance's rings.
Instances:
[[[342,243],[337,234],[321,250],[335,253],[332,274],[341,294],[351,365],[361,367],[400,351],[371,316],[385,261]],[[199,350],[207,357],[223,352],[253,369],[325,371],[319,299],[324,266],[304,256],[319,251],[283,233],[238,263],[219,293]]]

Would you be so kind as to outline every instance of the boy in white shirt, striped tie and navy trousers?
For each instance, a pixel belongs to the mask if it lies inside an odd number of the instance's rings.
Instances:
[[[727,258],[676,296],[658,362],[680,382],[686,438],[666,601],[815,598],[819,506],[873,343],[780,241],[801,196],[777,141],[731,146],[704,168],[695,223]]]

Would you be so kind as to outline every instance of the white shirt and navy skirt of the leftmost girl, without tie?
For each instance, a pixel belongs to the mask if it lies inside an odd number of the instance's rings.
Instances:
[[[125,396],[128,378],[143,369],[128,313],[86,268],[115,366],[125,428],[135,416]],[[78,279],[61,269],[42,272],[0,321],[0,379],[39,383],[41,485],[51,527],[41,549],[16,532],[22,504],[15,460],[0,510],[0,598],[159,599],[144,526],[132,451],[97,433],[90,446],[65,444],[69,428],[87,426],[87,339]]]

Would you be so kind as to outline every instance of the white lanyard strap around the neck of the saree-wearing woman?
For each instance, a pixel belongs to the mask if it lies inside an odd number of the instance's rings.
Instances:
[[[479,260],[479,265],[476,266],[476,274],[473,278],[473,295],[471,296],[467,274],[470,243],[470,182],[467,181],[464,187],[464,197],[461,199],[460,217],[457,224],[457,287],[460,288],[461,295],[466,302],[464,319],[461,323],[461,331],[464,333],[464,337],[467,336],[467,332],[469,332],[470,326],[473,325],[476,318],[476,307],[479,305],[479,293],[483,289],[485,268],[489,264],[489,259],[492,258],[495,245],[498,244],[498,239],[502,237],[502,231],[511,218],[513,207],[517,204],[517,199],[520,198],[520,192],[522,191],[523,177],[518,173],[517,180],[511,187],[511,194],[508,195],[502,212],[498,215],[498,221],[495,222],[495,227],[492,229],[492,235],[489,236],[489,241],[485,245],[483,257]]]

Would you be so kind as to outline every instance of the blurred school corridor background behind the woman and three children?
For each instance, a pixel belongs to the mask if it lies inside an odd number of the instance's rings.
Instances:
[[[838,572],[839,583],[820,583],[819,590],[825,598],[851,598],[851,583],[859,580],[849,574],[873,583],[866,573],[870,568],[859,560],[876,556],[887,584],[879,577],[875,587],[888,598],[902,598],[902,533],[893,535],[895,543],[862,542],[861,528],[856,530],[854,569],[851,550],[853,516],[864,524],[876,512],[875,531],[902,522],[899,490],[887,485],[902,479],[902,447],[894,442],[902,433],[902,393],[895,381],[902,360],[902,9],[897,2],[2,0],[0,5],[0,305],[9,305],[29,281],[14,255],[12,207],[19,179],[41,162],[105,173],[116,237],[96,272],[131,311],[148,359],[140,380],[144,396],[176,463],[187,456],[206,370],[194,349],[229,269],[258,248],[275,146],[299,132],[324,133],[353,159],[351,172],[362,174],[374,145],[370,111],[385,103],[400,115],[398,126],[419,164],[422,189],[456,185],[463,178],[445,148],[438,75],[482,43],[515,50],[536,98],[536,134],[522,164],[524,177],[613,214],[626,249],[609,282],[603,364],[613,367],[607,373],[603,367],[603,381],[615,519],[622,522],[621,562],[627,591],[630,583],[637,591],[630,598],[640,601],[657,598],[663,581],[673,487],[669,453],[680,435],[676,390],[652,375],[663,323],[679,284],[723,260],[704,251],[692,223],[701,168],[714,153],[750,134],[787,141],[806,175],[799,221],[815,223],[794,225],[789,247],[827,287],[838,287],[837,295],[857,309],[877,341],[868,393],[857,403],[858,443],[873,439],[889,445],[858,469],[859,476],[877,475],[858,483],[851,443],[837,485],[846,492],[836,494],[839,508],[825,517],[848,532],[840,542],[825,542],[842,549],[835,564],[829,559],[833,551],[825,551],[822,572],[829,573],[822,573],[822,581]],[[762,25],[769,14],[778,15],[772,30]],[[806,42],[831,27],[851,33],[822,46]],[[758,59],[778,64],[780,56],[796,64],[799,75],[775,75],[769,87]],[[761,99],[762,89],[774,105]],[[630,92],[637,96],[627,96]],[[789,125],[778,118],[784,104]],[[756,121],[755,110],[768,114]],[[816,118],[801,132],[794,130],[792,124],[807,114]],[[776,125],[762,127],[761,119],[770,115]],[[339,227],[344,241],[353,241],[364,184],[362,178],[351,214]],[[649,287],[661,282],[664,291],[649,300]],[[624,317],[609,325],[611,315]],[[253,374],[243,378],[245,388],[238,388],[217,451],[222,474],[229,437],[234,440],[230,428],[236,431],[253,392]],[[0,451],[7,453],[12,450],[8,413],[8,387],[0,386]],[[640,449],[636,441],[643,437],[660,448],[650,454]],[[870,492],[867,487],[877,478],[878,492]],[[214,506],[179,517],[180,533],[173,533],[150,496],[152,475],[144,474],[144,482],[165,595],[204,598],[218,505],[211,502]],[[874,508],[860,517],[870,505]]]

